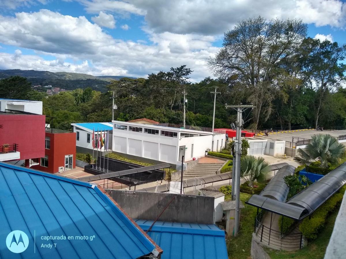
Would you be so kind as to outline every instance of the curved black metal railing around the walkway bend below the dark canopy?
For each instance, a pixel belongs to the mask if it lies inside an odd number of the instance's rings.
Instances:
[[[255,233],[261,242],[270,245],[279,246],[284,249],[301,249],[303,247],[303,234],[285,233],[272,229],[262,224],[262,214],[255,218]]]

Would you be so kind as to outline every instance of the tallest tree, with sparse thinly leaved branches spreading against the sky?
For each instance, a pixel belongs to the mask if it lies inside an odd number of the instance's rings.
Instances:
[[[235,90],[248,93],[247,101],[256,106],[256,126],[261,115],[266,121],[272,112],[272,80],[277,65],[297,53],[306,31],[300,20],[247,19],[225,33],[222,49],[208,59],[215,75],[230,78]]]

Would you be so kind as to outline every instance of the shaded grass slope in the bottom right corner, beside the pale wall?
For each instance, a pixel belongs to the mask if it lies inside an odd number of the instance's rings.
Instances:
[[[338,215],[339,208],[331,212],[328,217],[326,224],[322,231],[319,232],[318,237],[309,242],[307,247],[304,247],[298,251],[288,252],[288,251],[275,251],[266,249],[268,255],[272,259],[286,259],[286,258],[297,258],[297,259],[323,259],[328,242],[333,232],[334,223],[336,216]]]

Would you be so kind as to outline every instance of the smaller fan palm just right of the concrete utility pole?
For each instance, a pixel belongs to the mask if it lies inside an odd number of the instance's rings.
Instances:
[[[271,172],[271,167],[263,157],[247,155],[240,161],[240,177],[244,179],[249,187],[254,186],[254,182],[264,183]]]

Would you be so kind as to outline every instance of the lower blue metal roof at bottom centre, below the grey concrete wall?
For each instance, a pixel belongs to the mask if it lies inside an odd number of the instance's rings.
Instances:
[[[136,220],[147,231],[152,220]],[[214,224],[156,221],[149,236],[163,249],[162,259],[228,258],[225,231]]]

